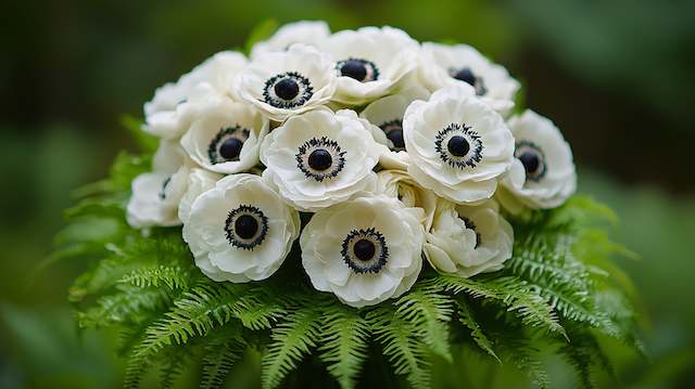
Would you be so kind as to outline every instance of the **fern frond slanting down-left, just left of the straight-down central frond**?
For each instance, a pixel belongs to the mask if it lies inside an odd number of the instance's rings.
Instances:
[[[270,345],[262,360],[263,388],[275,388],[298,362],[316,347],[321,325],[320,311],[305,306],[295,309],[270,334]]]

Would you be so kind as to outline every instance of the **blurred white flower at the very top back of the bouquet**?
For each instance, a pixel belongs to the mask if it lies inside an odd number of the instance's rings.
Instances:
[[[267,40],[256,42],[251,49],[251,59],[268,52],[285,51],[294,43],[318,46],[330,35],[326,22],[301,21],[283,25]]]

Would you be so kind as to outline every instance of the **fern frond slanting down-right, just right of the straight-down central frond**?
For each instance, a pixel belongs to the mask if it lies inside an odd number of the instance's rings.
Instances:
[[[417,328],[393,306],[380,307],[367,315],[371,332],[383,348],[383,354],[395,374],[405,375],[414,388],[430,385],[428,349],[415,336]]]

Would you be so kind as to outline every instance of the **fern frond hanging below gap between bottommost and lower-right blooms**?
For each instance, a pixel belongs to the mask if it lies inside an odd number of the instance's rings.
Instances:
[[[420,283],[395,303],[397,312],[416,328],[416,334],[438,355],[453,362],[450,350],[448,322],[451,298],[439,294],[431,283]]]

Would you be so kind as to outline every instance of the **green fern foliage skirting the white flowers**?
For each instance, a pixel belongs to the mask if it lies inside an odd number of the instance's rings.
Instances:
[[[609,262],[628,251],[592,228],[612,216],[586,198],[511,219],[514,258],[500,272],[459,278],[426,264],[400,299],[353,309],[315,291],[296,275],[300,268],[289,269],[296,254],[263,283],[215,283],[193,264],[180,229],[147,236],[131,230],[124,221],[129,185],[148,167],[149,158],[118,156],[108,180],[79,191],[71,225],[56,239],[56,258],[93,259],[70,298],[80,326],[122,329],[126,387],[152,368],[168,387],[200,365],[201,386],[219,388],[253,349],[262,354],[265,388],[282,385],[309,354],[340,387],[354,388],[374,372],[365,364],[375,350],[391,365],[386,374],[420,388],[429,386],[432,358],[453,362],[452,348],[460,345],[547,387],[540,343],[554,346],[590,387],[596,366],[609,365],[597,334],[639,346],[630,283]]]

